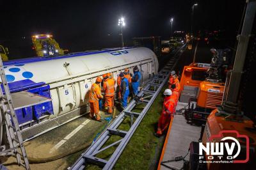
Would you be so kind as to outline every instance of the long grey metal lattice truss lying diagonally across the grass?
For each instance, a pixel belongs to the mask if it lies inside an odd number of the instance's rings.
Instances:
[[[119,116],[114,120],[111,125],[95,141],[88,150],[86,150],[81,157],[75,162],[75,164],[70,167],[70,169],[84,169],[88,164],[95,164],[102,169],[113,169],[116,161],[124,151],[125,146],[129,143],[132,135],[134,134],[136,128],[140,125],[144,116],[147,114],[148,109],[153,104],[157,95],[163,88],[166,81],[170,76],[170,72],[179,61],[179,58],[183,52],[186,44],[180,47],[175,55],[170,59],[170,61],[164,66],[163,69],[157,75],[154,75],[150,81],[145,85],[145,87],[138,94],[138,98],[143,98],[143,100],[133,99],[129,105],[122,111]],[[146,100],[147,99],[147,100]],[[136,105],[142,104],[143,110],[141,112],[133,112],[132,110]],[[129,117],[131,119],[131,125],[128,131],[119,130],[118,127],[122,124],[125,118]],[[136,119],[134,121],[134,119]],[[122,137],[120,140],[115,141],[111,144],[106,143],[109,141],[112,135],[118,135]],[[115,151],[112,153],[108,160],[97,157],[102,151],[111,148],[112,146],[117,146]]]

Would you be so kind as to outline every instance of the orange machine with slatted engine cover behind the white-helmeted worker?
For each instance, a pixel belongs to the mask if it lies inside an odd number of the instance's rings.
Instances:
[[[224,67],[227,66],[221,65],[221,68]],[[212,63],[184,66],[180,80],[180,102],[188,103],[185,116],[189,122],[205,123],[211,111],[221,105],[225,79],[220,77],[225,76],[220,76],[220,73],[220,69]]]

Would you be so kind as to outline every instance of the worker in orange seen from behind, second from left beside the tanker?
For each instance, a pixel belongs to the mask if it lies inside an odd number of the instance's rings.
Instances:
[[[111,73],[108,73],[103,82],[103,90],[105,93],[105,104],[108,108],[108,114],[113,114],[114,97],[115,97],[115,79],[111,78]]]

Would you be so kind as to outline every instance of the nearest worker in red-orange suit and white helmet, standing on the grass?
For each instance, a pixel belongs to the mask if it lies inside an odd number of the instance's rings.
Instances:
[[[168,125],[173,118],[176,104],[175,97],[172,97],[172,90],[165,89],[163,109],[158,121],[157,132],[154,134],[156,137],[163,135],[164,130],[168,128]]]

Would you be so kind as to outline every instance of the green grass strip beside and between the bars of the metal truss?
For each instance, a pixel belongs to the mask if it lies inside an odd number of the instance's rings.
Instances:
[[[153,135],[156,132],[157,122],[161,114],[163,105],[163,91],[161,90],[156,100],[147,112],[147,115],[141,121],[136,132],[132,135],[131,141],[127,144],[121,157],[116,162],[114,169],[155,169],[161,154],[164,137],[157,138]],[[143,105],[137,105],[132,111],[140,112]],[[135,120],[134,120],[135,121]],[[118,127],[120,130],[129,130],[131,119],[125,118],[124,122]],[[113,135],[107,141],[108,144],[122,139]],[[104,146],[103,146],[104,147]],[[108,150],[99,153],[97,157],[109,159],[117,146],[108,148]],[[87,166],[86,169],[99,169],[97,166]]]

